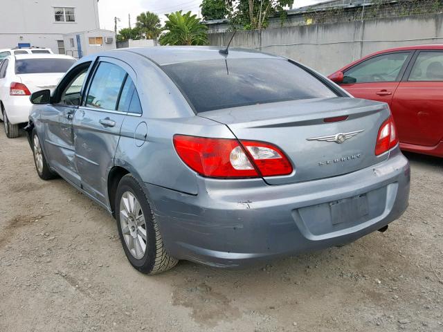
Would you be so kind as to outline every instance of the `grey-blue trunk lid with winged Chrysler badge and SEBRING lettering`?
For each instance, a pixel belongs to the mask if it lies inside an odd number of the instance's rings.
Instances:
[[[239,140],[260,140],[282,149],[294,172],[264,178],[266,183],[278,185],[347,174],[386,160],[388,154],[375,156],[374,148],[389,114],[388,106],[380,102],[323,98],[208,111],[199,116],[226,124]],[[346,120],[325,122],[335,117]]]

